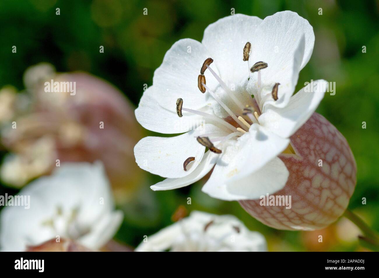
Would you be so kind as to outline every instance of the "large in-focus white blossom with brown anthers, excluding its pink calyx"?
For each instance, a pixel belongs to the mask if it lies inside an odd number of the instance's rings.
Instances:
[[[202,190],[215,198],[256,199],[282,189],[289,173],[277,155],[294,155],[289,137],[313,114],[326,89],[326,81],[318,80],[293,95],[314,40],[307,20],[283,11],[264,20],[242,14],[225,17],[205,29],[201,43],[176,42],[135,111],[149,130],[184,133],[145,137],[135,146],[139,167],[167,178],[151,188],[187,186],[214,167]],[[243,61],[247,42],[251,50]],[[204,67],[202,94],[198,77],[209,57],[213,63]],[[268,66],[251,72],[257,62]],[[313,92],[307,92],[312,85]],[[175,105],[178,98],[183,103]],[[197,136],[211,143],[199,138],[199,144]],[[213,150],[222,153],[205,152],[213,143]]]

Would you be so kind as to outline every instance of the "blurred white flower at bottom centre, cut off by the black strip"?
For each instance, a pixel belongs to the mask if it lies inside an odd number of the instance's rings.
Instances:
[[[136,251],[266,251],[265,237],[231,215],[193,211],[148,236]]]

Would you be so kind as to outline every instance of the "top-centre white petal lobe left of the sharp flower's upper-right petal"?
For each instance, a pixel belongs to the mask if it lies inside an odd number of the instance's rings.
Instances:
[[[202,44],[211,53],[224,81],[240,82],[249,77],[247,61],[243,61],[243,48],[246,42],[255,43],[255,28],[261,22],[262,19],[256,16],[235,14],[219,19],[205,29]]]

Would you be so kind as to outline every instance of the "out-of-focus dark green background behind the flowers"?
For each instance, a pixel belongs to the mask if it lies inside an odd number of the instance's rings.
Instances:
[[[0,87],[11,84],[22,90],[25,69],[50,62],[58,72],[83,70],[109,81],[137,106],[144,84],[152,85],[154,70],[175,41],[187,37],[201,41],[204,29],[229,16],[231,8],[262,19],[277,11],[295,11],[309,20],[316,37],[297,89],[311,79],[336,83],[336,94],[326,94],[317,112],[341,131],[355,155],[357,186],[349,208],[379,230],[378,6],[379,1],[353,0],[2,0]],[[59,16],[56,8],[60,8]],[[143,8],[148,9],[147,16]],[[17,54],[11,52],[13,45]],[[99,53],[100,45],[104,53]],[[362,53],[363,46],[366,53]],[[366,129],[362,129],[363,121]],[[363,250],[348,220],[315,232],[274,230],[250,217],[237,202],[202,193],[204,181],[174,191],[152,192],[149,186],[162,178],[144,175],[133,201],[121,205],[125,220],[116,235],[119,242],[135,247],[145,234],[172,223],[172,214],[184,205],[188,211],[235,215],[248,228],[265,235],[269,251]],[[17,191],[1,186],[0,194],[5,192]],[[187,205],[188,197],[191,205]],[[367,198],[366,205],[362,205],[362,197]],[[324,235],[322,244],[317,242],[319,234]]]

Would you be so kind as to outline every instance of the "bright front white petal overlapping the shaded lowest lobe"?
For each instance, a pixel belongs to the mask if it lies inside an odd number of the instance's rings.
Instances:
[[[245,194],[230,192],[227,182],[253,175],[281,153],[289,142],[289,139],[283,139],[258,124],[252,125],[249,133],[226,148],[202,191],[222,200],[249,198],[248,191]]]

